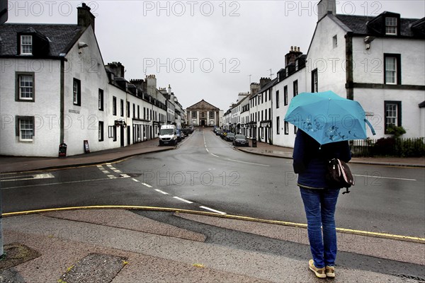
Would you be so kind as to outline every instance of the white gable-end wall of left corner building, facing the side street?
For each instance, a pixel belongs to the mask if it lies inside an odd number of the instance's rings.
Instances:
[[[89,47],[81,49],[78,43],[85,42]],[[66,55],[64,77],[64,142],[67,144],[67,155],[83,154],[84,140],[89,141],[90,151],[99,151],[116,147],[108,141],[108,115],[112,98],[108,96],[108,77],[96,42],[94,30],[87,28],[83,35]],[[73,79],[81,81],[81,106],[74,105],[72,99]],[[98,89],[103,89],[104,110],[98,110]],[[125,94],[121,96],[125,99]],[[70,112],[71,111],[71,112]],[[119,111],[119,99],[118,99]],[[104,141],[98,141],[98,121],[104,121]],[[117,139],[119,146],[120,139]]]

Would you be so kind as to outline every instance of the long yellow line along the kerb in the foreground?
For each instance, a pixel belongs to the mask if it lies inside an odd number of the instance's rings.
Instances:
[[[86,207],[59,207],[59,208],[51,208],[51,209],[35,209],[35,210],[28,210],[24,212],[6,212],[1,215],[3,217],[21,216],[21,215],[27,215],[27,214],[37,214],[37,213],[43,213],[43,212],[60,212],[60,211],[77,210],[77,209],[130,209],[130,210],[153,210],[153,211],[159,211],[159,212],[176,212],[176,213],[181,212],[181,213],[199,214],[199,215],[205,215],[205,216],[216,216],[216,217],[227,218],[227,219],[238,219],[238,220],[254,221],[254,222],[260,222],[260,223],[277,224],[277,225],[283,225],[283,226],[293,226],[298,228],[307,228],[307,224],[294,223],[294,222],[288,222],[288,221],[258,219],[258,218],[249,217],[249,216],[218,214],[214,212],[202,212],[202,211],[191,210],[191,209],[176,209],[176,208],[170,208],[170,207],[143,207],[143,206],[134,206],[134,205],[93,205],[93,206],[86,206]],[[345,228],[336,228],[336,231],[341,233],[356,234],[356,235],[369,236],[369,237],[375,237],[375,238],[387,238],[387,239],[399,240],[399,241],[425,243],[425,238],[420,238],[420,237],[402,236],[402,235],[395,235],[390,233],[378,233],[378,232],[361,231],[361,230],[353,230],[353,229],[345,229]]]

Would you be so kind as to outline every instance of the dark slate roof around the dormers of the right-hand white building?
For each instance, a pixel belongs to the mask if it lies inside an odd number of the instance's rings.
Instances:
[[[335,15],[342,23],[350,28],[357,35],[373,35],[376,32],[368,28],[368,21],[373,21],[375,16],[356,16],[356,15]],[[400,18],[400,35],[404,37],[414,37],[414,31],[411,28],[413,23],[421,21],[417,18]]]

